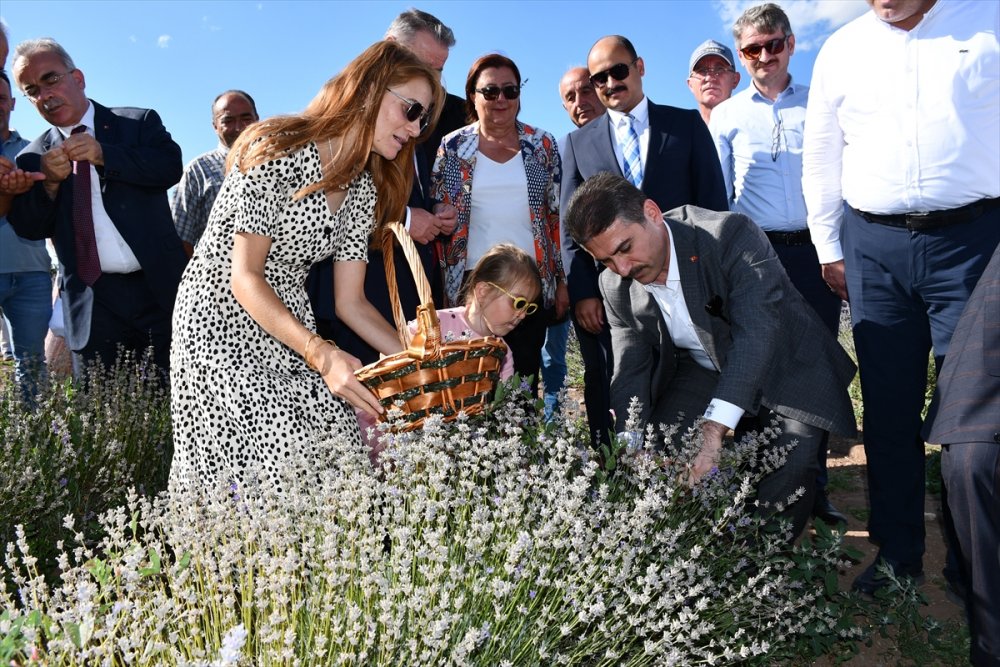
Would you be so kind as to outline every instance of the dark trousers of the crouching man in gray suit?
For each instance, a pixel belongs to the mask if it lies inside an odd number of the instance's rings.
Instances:
[[[658,403],[654,414],[665,416],[667,424],[680,423],[679,433],[684,433],[695,420],[705,414],[705,408],[712,400],[719,374],[699,366],[686,351],[677,352],[677,370]],[[681,417],[683,413],[683,417]],[[661,421],[660,418],[657,419]],[[813,498],[816,491],[817,451],[824,442],[827,431],[800,421],[779,415],[761,407],[756,415],[746,415],[734,429],[735,438],[741,439],[748,432],[761,431],[777,420],[781,433],[768,447],[783,447],[795,441],[798,444],[788,453],[788,458],[779,469],[765,476],[757,486],[757,499],[770,507],[780,503],[785,509],[778,514],[792,523],[793,539],[805,528],[812,515]],[[805,489],[805,494],[788,505],[788,498],[796,489]]]

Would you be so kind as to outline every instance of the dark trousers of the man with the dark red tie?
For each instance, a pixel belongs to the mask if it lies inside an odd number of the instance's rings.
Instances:
[[[90,339],[73,351],[74,367],[84,369],[96,362],[110,367],[119,348],[142,359],[153,348],[153,362],[164,372],[170,370],[172,312],[164,310],[150,291],[142,271],[103,273],[93,286]]]

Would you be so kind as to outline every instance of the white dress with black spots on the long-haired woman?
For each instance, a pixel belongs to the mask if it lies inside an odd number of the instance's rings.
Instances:
[[[208,228],[184,272],[170,349],[174,458],[170,486],[236,484],[279,474],[295,452],[317,460],[332,433],[360,439],[353,408],[330,393],[319,373],[268,334],[231,288],[233,237],[272,239],[265,278],[291,313],[316,324],[306,274],[320,259],[367,259],[375,185],[363,172],[336,215],[323,192],[295,200],[319,181],[315,144],[223,183]]]

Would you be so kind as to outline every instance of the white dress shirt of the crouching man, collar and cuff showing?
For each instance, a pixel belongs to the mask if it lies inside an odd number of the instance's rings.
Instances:
[[[674,235],[670,231],[670,225],[666,222],[663,226],[667,228],[667,238],[670,242],[670,265],[667,267],[667,282],[664,285],[650,283],[644,285],[646,291],[653,297],[660,307],[663,321],[670,332],[670,339],[674,347],[687,350],[691,358],[702,368],[719,372],[715,367],[712,358],[705,351],[705,346],[698,339],[698,332],[695,331],[694,323],[691,321],[691,311],[688,309],[687,301],[684,299],[684,290],[681,289],[681,274],[677,269],[677,250],[674,247]],[[735,428],[743,416],[743,408],[734,405],[720,398],[713,398],[705,409],[705,417],[716,421],[729,428]]]

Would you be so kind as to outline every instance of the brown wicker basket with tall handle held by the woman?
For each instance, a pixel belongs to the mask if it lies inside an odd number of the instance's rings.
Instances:
[[[394,238],[399,239],[421,301],[417,333],[412,339],[399,302]],[[359,368],[355,375],[382,407],[402,409],[404,422],[397,431],[420,428],[430,415],[443,415],[445,421],[451,421],[460,411],[480,412],[500,379],[506,345],[496,336],[443,342],[430,285],[410,235],[398,222],[390,223],[381,246],[396,331],[406,349]]]

